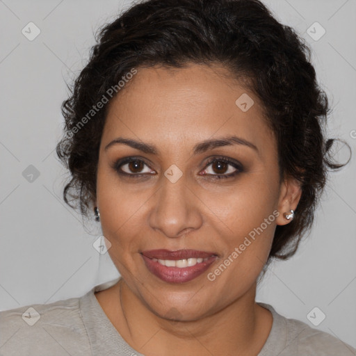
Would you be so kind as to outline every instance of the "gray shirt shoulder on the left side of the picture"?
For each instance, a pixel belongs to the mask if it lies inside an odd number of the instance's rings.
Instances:
[[[0,355],[90,355],[80,298],[0,312]]]

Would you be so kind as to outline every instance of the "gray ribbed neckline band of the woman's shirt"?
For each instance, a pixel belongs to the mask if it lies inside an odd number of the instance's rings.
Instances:
[[[92,354],[100,355],[102,348],[105,347],[106,355],[118,355],[118,350],[120,350],[120,353],[122,353],[120,355],[122,356],[145,356],[131,348],[122,338],[95,297],[95,292],[108,289],[119,280],[120,277],[98,284],[79,298],[81,316],[88,333]],[[280,353],[286,347],[286,319],[278,314],[271,305],[264,302],[257,302],[257,304],[268,309],[273,316],[270,334],[257,356],[269,356],[272,353]],[[100,325],[100,327],[98,327],[98,325]]]

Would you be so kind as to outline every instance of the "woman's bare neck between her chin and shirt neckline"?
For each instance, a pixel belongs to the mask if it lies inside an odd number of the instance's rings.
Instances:
[[[256,284],[224,309],[193,321],[178,321],[175,309],[164,318],[155,314],[123,280],[102,302],[122,338],[146,356],[252,356],[264,346],[273,321],[254,302],[255,293]]]

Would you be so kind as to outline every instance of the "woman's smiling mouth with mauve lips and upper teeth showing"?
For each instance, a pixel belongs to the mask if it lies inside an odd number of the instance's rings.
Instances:
[[[218,258],[215,252],[198,250],[149,250],[141,252],[141,256],[149,272],[168,283],[189,282]]]

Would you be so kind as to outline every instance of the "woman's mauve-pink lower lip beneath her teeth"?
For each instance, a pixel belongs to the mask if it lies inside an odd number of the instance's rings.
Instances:
[[[143,257],[145,264],[151,273],[156,275],[156,277],[159,277],[164,282],[169,283],[184,283],[194,280],[194,278],[204,273],[216,260],[216,256],[211,256],[207,259],[207,261],[202,261],[200,264],[196,264],[195,266],[179,268],[163,266],[159,262],[149,259],[144,254],[141,254],[141,256]]]

